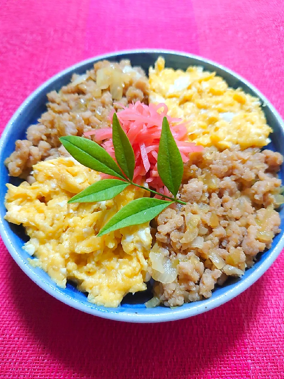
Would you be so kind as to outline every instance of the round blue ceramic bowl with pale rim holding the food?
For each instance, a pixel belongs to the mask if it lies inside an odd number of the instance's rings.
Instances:
[[[39,287],[56,299],[76,309],[80,309],[83,312],[118,321],[135,323],[172,321],[198,315],[218,307],[230,299],[233,299],[259,279],[272,265],[284,247],[284,208],[281,208],[280,227],[282,231],[275,236],[271,248],[258,255],[257,262],[252,268],[247,269],[241,278],[231,280],[223,287],[217,287],[212,292],[210,299],[184,304],[175,309],[162,306],[147,309],[144,303],[151,298],[150,288],[147,291],[138,292],[135,295],[128,294],[123,299],[122,305],[118,308],[100,307],[88,302],[86,295],[78,291],[72,283],[67,283],[65,289],[59,288],[50,279],[47,273],[40,268],[34,268],[29,265],[27,258],[30,256],[22,249],[23,244],[27,241],[27,236],[25,236],[21,227],[9,224],[4,220],[6,208],[3,204],[3,199],[6,194],[6,183],[13,182],[15,184],[15,178],[8,176],[8,171],[4,166],[4,160],[14,150],[15,141],[17,139],[24,139],[28,126],[36,123],[36,120],[46,111],[47,93],[52,90],[59,90],[62,86],[69,83],[73,73],[83,74],[86,70],[91,69],[95,62],[102,59],[117,62],[122,59],[130,59],[133,66],[141,66],[145,72],[147,72],[148,67],[154,65],[159,55],[164,56],[167,67],[185,70],[188,66],[203,66],[205,70],[215,71],[217,75],[223,77],[230,87],[241,87],[243,91],[248,94],[258,97],[261,100],[267,123],[273,129],[273,133],[270,136],[272,142],[269,148],[284,155],[284,123],[273,106],[254,86],[231,70],[214,62],[195,55],[168,50],[132,50],[101,55],[78,63],[60,72],[40,86],[23,102],[9,121],[0,139],[0,198],[2,199],[0,204],[0,234],[8,251],[20,268],[37,283]],[[279,177],[282,180],[283,173],[283,167],[281,167]]]

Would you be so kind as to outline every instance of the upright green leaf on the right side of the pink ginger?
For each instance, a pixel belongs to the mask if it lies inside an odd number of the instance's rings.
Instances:
[[[157,168],[162,182],[176,197],[183,179],[183,160],[170,130],[167,117],[164,117],[162,123]]]

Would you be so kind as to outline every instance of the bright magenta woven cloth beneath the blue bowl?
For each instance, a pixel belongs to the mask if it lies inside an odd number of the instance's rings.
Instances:
[[[2,0],[0,9],[1,131],[62,69],[143,47],[217,61],[251,81],[284,116],[283,0]],[[0,379],[284,378],[283,258],[208,313],[127,324],[52,298],[1,241]]]

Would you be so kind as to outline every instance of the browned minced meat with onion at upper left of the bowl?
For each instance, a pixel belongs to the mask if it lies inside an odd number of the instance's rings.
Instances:
[[[148,80],[145,72],[140,67],[131,67],[128,60],[100,61],[84,75],[73,74],[67,86],[47,97],[47,112],[38,124],[28,127],[27,139],[17,140],[15,151],[5,160],[11,176],[31,182],[33,164],[68,155],[59,137],[82,136],[92,129],[110,127],[111,110],[117,111],[122,105],[138,100],[148,103]]]

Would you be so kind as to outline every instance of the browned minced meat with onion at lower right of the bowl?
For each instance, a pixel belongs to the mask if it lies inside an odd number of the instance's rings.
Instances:
[[[167,249],[176,270],[172,283],[154,287],[162,304],[210,298],[216,283],[241,276],[271,246],[280,232],[274,208],[284,199],[277,176],[282,161],[277,152],[238,146],[192,154],[179,191],[187,205],[173,204],[156,219],[155,251],[157,244]]]

